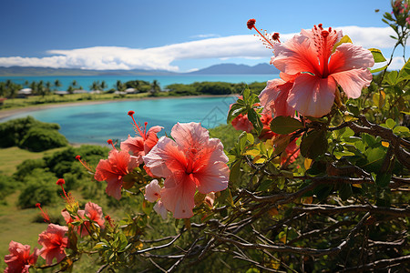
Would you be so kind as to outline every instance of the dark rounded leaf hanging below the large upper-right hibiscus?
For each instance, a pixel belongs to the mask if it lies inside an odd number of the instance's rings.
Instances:
[[[302,137],[301,154],[303,157],[314,159],[327,151],[328,143],[324,130],[312,131]]]

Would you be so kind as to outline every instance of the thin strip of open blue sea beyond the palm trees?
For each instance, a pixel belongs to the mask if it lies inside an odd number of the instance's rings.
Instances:
[[[279,77],[279,75],[177,75],[177,76],[0,76],[0,82],[5,82],[7,79],[12,80],[16,84],[24,85],[33,81],[42,80],[44,83],[50,82],[54,84],[56,79],[62,84],[59,90],[67,90],[68,86],[77,81],[78,86],[89,90],[90,86],[95,81],[106,81],[108,89],[116,88],[117,80],[125,83],[130,80],[145,80],[152,82],[158,80],[161,87],[166,87],[171,84],[192,84],[195,82],[228,82],[228,83],[246,83],[266,82],[272,78]]]

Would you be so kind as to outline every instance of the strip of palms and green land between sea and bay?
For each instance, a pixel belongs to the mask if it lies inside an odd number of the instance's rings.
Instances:
[[[42,82],[27,83],[33,91],[30,96],[18,96],[18,90],[24,86],[17,85],[10,80],[0,82],[0,97],[5,97],[1,109],[24,108],[26,106],[42,106],[60,103],[104,101],[118,99],[139,99],[143,97],[168,97],[168,96],[217,96],[241,94],[245,87],[249,87],[252,92],[259,93],[266,85],[265,83],[254,82],[249,85],[244,83],[232,84],[225,82],[197,82],[190,85],[172,84],[161,88],[159,82],[154,80],[152,83],[143,80],[133,80],[126,83],[117,81],[116,86],[108,89],[104,81],[96,81],[90,87],[90,90],[99,90],[101,92],[74,93],[77,81],[73,81],[68,88],[68,93],[58,95],[56,86],[59,86],[58,80],[53,85],[44,85]],[[48,86],[48,87],[47,87]],[[50,87],[50,86],[54,86]],[[106,90],[107,89],[107,90]],[[126,90],[129,92],[125,92]]]

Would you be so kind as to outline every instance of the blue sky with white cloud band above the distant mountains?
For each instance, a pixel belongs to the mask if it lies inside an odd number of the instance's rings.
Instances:
[[[1,0],[0,9],[0,66],[185,72],[269,62],[272,52],[250,36],[249,18],[284,39],[322,23],[385,55],[393,44],[381,21],[389,0]]]

